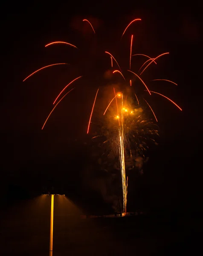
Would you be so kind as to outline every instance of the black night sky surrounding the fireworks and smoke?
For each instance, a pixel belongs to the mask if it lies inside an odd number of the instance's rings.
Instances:
[[[160,58],[159,67],[146,71],[143,80],[177,82],[177,87],[151,82],[149,88],[173,99],[183,111],[157,95],[153,95],[153,100],[146,96],[157,115],[160,138],[157,148],[148,153],[144,175],[132,177],[131,186],[136,187],[131,192],[131,198],[136,198],[131,199],[132,204],[135,200],[145,201],[143,205],[147,208],[195,208],[202,169],[198,6],[177,9],[172,4],[159,7],[97,4],[73,7],[73,3],[58,6],[35,3],[9,7],[9,11],[5,6],[5,12],[1,11],[3,195],[14,185],[31,194],[41,193],[47,182],[71,187],[73,194],[82,193],[81,169],[88,162],[84,142],[89,140],[86,134],[89,114],[97,88],[105,86],[104,72],[110,65],[103,52],[112,52],[127,67],[130,37],[134,33],[133,54],[157,56],[170,52]],[[96,35],[88,24],[82,23],[84,18],[92,22]],[[125,27],[135,18],[142,21],[129,27],[121,41]],[[65,45],[44,47],[52,41],[67,41],[79,50]],[[143,63],[141,58],[137,60]],[[70,65],[48,68],[23,82],[38,68],[58,62]],[[42,131],[55,97],[81,75],[83,80],[75,83],[73,93],[58,105]]]

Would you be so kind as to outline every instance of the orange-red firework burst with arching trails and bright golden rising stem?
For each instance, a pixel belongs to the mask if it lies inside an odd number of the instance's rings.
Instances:
[[[96,31],[94,29],[94,24],[90,23],[89,20],[84,19],[82,20],[84,23],[87,24],[87,26],[90,26],[93,31],[93,36],[96,34]],[[108,97],[103,97],[102,102],[104,105],[104,109],[102,110],[102,114],[100,113],[100,118],[98,120],[98,125],[95,127],[91,127],[91,120],[92,119],[98,119],[98,117],[94,116],[94,111],[97,108],[97,99],[98,94],[101,93],[102,88],[98,88],[96,91],[95,98],[92,99],[92,109],[90,110],[90,118],[87,122],[87,134],[94,134],[93,140],[99,141],[99,143],[102,143],[103,147],[105,148],[104,155],[107,155],[107,157],[110,155],[110,152],[113,152],[114,158],[117,158],[120,163],[120,170],[121,170],[121,178],[122,178],[122,194],[123,194],[123,211],[126,212],[126,205],[127,205],[127,188],[128,188],[128,177],[126,177],[126,168],[128,166],[126,165],[126,159],[135,159],[137,155],[145,157],[145,151],[148,149],[148,145],[150,142],[155,142],[156,136],[158,134],[158,128],[157,125],[154,125],[151,119],[146,115],[146,113],[143,111],[144,109],[148,108],[151,111],[152,117],[155,118],[156,122],[158,122],[157,117],[151,108],[151,105],[149,103],[139,97],[137,93],[135,92],[135,81],[138,81],[138,83],[142,84],[143,91],[146,91],[149,95],[149,97],[152,97],[152,94],[156,93],[159,96],[164,97],[165,99],[168,99],[169,102],[173,103],[177,108],[179,108],[181,111],[182,109],[171,99],[169,99],[167,96],[162,95],[161,93],[154,92],[148,89],[148,85],[145,82],[145,78],[141,78],[142,73],[147,70],[151,64],[155,64],[158,66],[159,58],[168,55],[169,52],[162,53],[158,55],[157,57],[149,57],[145,54],[136,53],[133,54],[133,38],[134,35],[128,35],[128,28],[129,26],[139,26],[139,22],[141,22],[140,18],[132,20],[128,26],[126,26],[121,38],[124,40],[124,34],[125,38],[128,38],[129,42],[129,52],[126,52],[126,56],[129,58],[129,70],[124,66],[124,68],[121,69],[121,66],[119,65],[116,58],[107,51],[103,52],[104,59],[109,58],[108,60],[108,66],[107,70],[108,73],[111,74],[111,79],[119,79],[119,90],[115,90],[115,88],[109,87],[108,91]],[[76,48],[75,45],[64,42],[64,41],[55,41],[51,42],[49,44],[46,44],[45,47],[52,46],[54,48],[54,45],[57,44],[65,44],[68,47]],[[133,56],[141,55],[143,58],[147,58],[147,60],[142,64],[140,64],[139,70],[133,69]],[[47,67],[52,67],[55,65],[61,65],[66,63],[56,63],[56,64],[50,64],[46,67],[42,67],[29,76],[27,76],[23,81],[26,81],[28,78],[30,78],[35,73],[39,72],[40,70],[43,70]],[[119,68],[119,70],[115,70],[115,68]],[[124,70],[124,72],[122,72]],[[132,71],[133,70],[133,71]],[[142,71],[141,71],[142,70]],[[128,72],[126,72],[128,71]],[[141,73],[139,73],[141,71]],[[145,71],[146,72],[146,71]],[[125,73],[125,76],[123,75]],[[71,81],[69,84],[67,84],[63,90],[58,94],[56,97],[55,102],[58,100],[58,103],[55,105],[55,107],[52,109],[52,111],[49,113],[49,116],[47,117],[46,121],[44,122],[44,125],[42,129],[44,128],[46,122],[48,121],[49,117],[51,116],[51,113],[55,110],[59,102],[62,101],[62,99],[65,98],[65,96],[73,89],[71,89],[69,92],[65,93],[67,87],[69,87],[70,84],[75,82],[75,80],[80,79],[84,74],[80,74],[77,78],[75,78],[73,81]],[[98,78],[99,79],[99,78]],[[82,78],[80,79],[80,81]],[[112,81],[112,83],[113,83]],[[175,82],[171,80],[166,79],[154,79],[151,81],[168,81],[170,83],[176,84]],[[78,81],[77,81],[78,82]],[[176,84],[177,85],[177,84]],[[146,90],[145,90],[146,89]],[[107,98],[112,94],[112,98],[107,102]],[[53,116],[53,115],[52,115]],[[87,117],[88,119],[88,117]],[[90,129],[91,128],[91,129]],[[85,131],[85,129],[84,129]],[[132,160],[133,165],[133,160]]]

